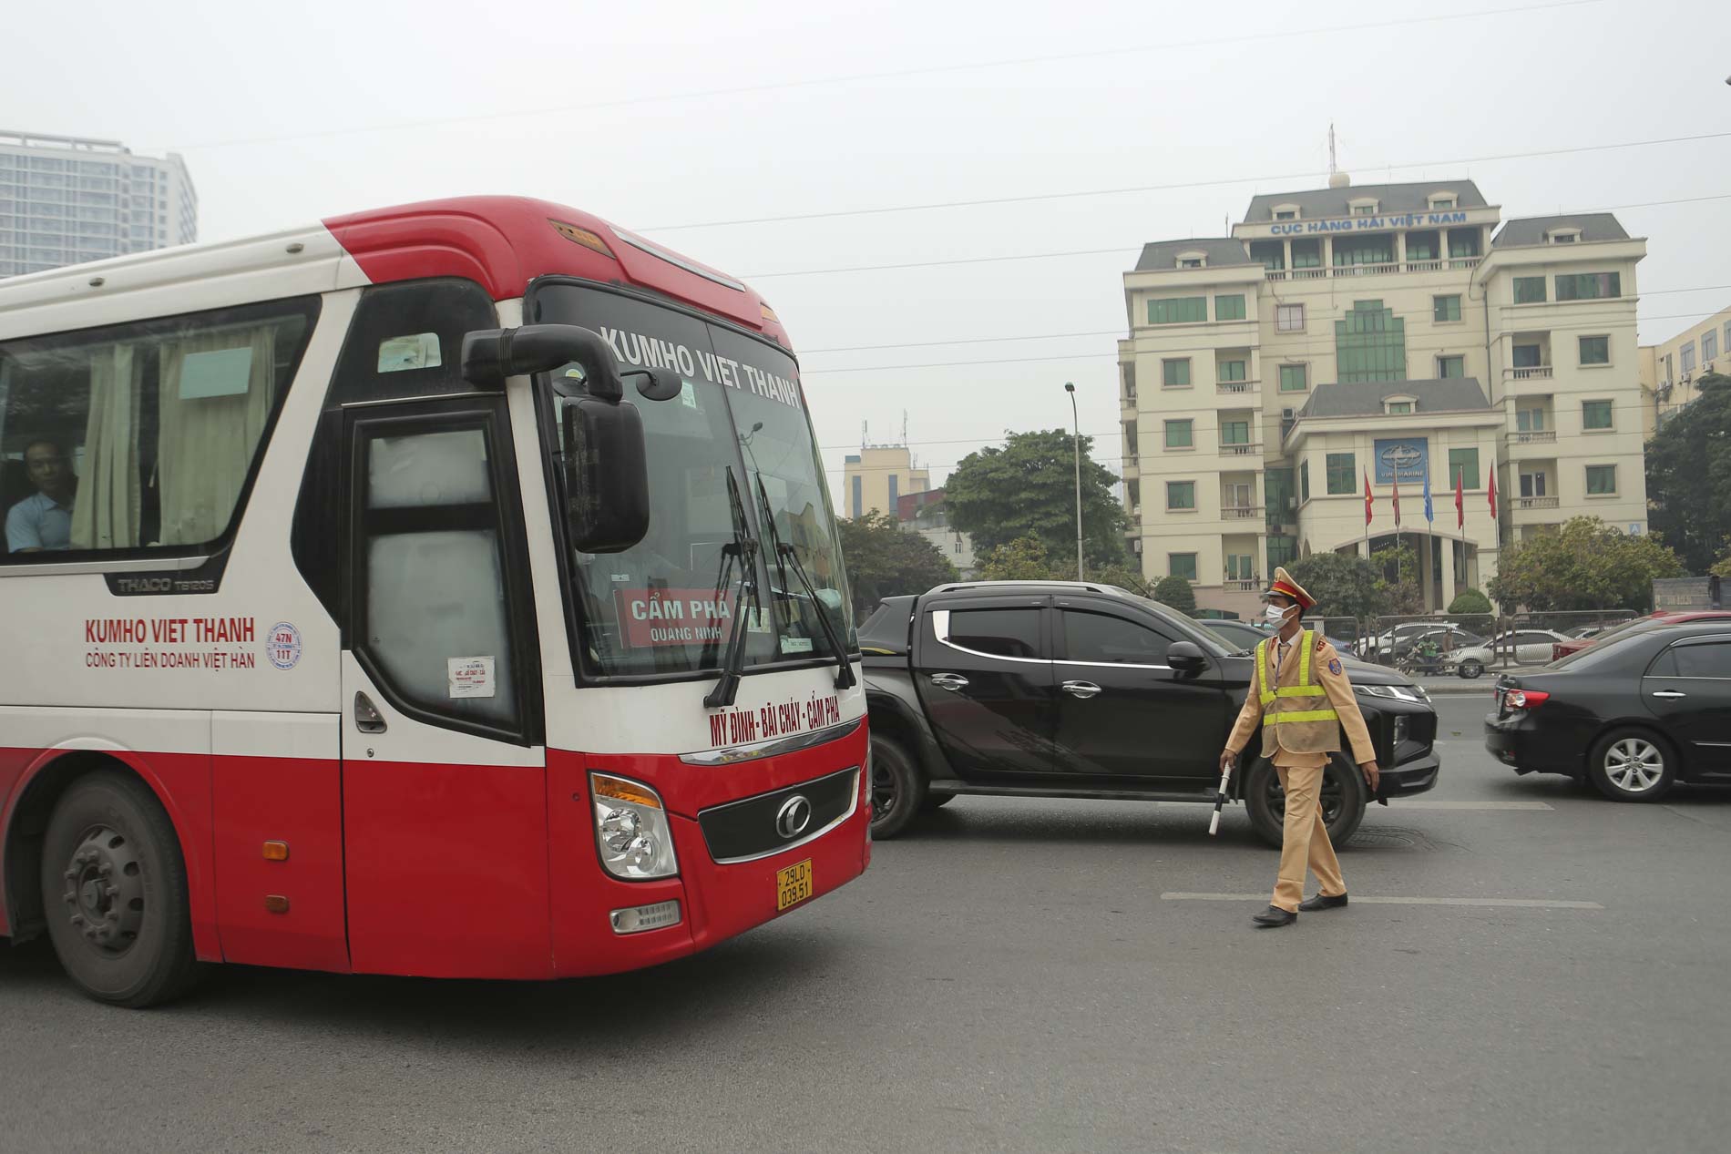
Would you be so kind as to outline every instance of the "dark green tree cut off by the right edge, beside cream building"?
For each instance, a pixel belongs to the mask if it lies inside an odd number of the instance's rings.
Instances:
[[[1646,445],[1648,521],[1689,573],[1707,573],[1731,536],[1731,377],[1695,382],[1688,410]]]

